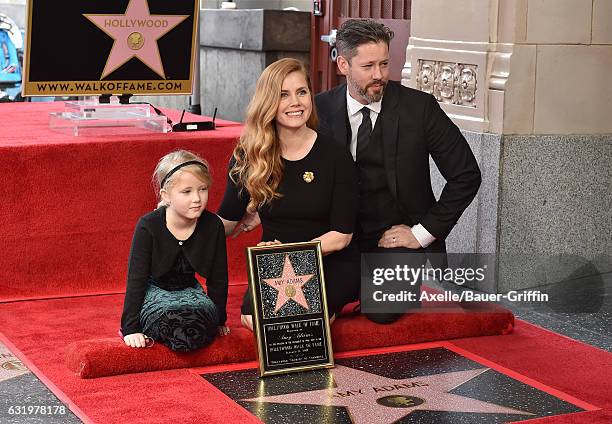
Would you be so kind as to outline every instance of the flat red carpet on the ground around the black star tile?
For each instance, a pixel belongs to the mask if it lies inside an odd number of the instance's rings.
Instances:
[[[64,365],[66,346],[94,333],[108,334],[109,321],[119,313],[115,297],[7,303],[1,307],[2,331],[20,351],[15,353],[22,360],[34,365],[37,374],[53,383],[60,396],[69,398],[94,422],[123,423],[126,416],[142,423],[255,422],[240,408],[229,408],[227,398],[186,369],[95,379],[81,379],[69,371]],[[87,302],[91,303],[91,319],[83,321],[84,315],[75,314],[75,310],[87,310]],[[49,319],[50,315],[55,319]],[[362,332],[360,339],[368,338],[370,333]],[[510,335],[466,338],[452,344],[602,408],[539,422],[599,423],[612,419],[612,355],[607,352],[522,321]],[[146,362],[145,356],[133,359]]]

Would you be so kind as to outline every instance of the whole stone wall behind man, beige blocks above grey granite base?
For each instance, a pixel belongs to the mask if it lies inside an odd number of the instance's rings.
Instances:
[[[447,246],[504,258],[484,290],[612,272],[611,70],[612,0],[412,1],[402,83],[436,97],[479,161]]]

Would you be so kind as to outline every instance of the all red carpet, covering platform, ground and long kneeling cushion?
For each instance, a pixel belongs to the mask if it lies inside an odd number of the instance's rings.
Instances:
[[[211,162],[215,183],[209,209],[216,210],[240,127],[222,123],[227,126],[205,133],[75,138],[48,130],[47,113],[59,109],[44,103],[0,105],[5,123],[0,154],[9,170],[0,185],[0,243],[9,252],[0,257],[0,302],[8,301],[0,303],[0,339],[86,421],[124,423],[129,417],[142,423],[257,422],[241,408],[229,407],[230,400],[186,369],[81,378],[253,358],[249,334],[237,322],[238,291],[244,286],[232,288],[228,305],[233,335],[184,357],[172,356],[163,346],[135,351],[121,345],[115,334],[123,295],[70,297],[125,289],[133,227],[155,205],[150,175],[165,153],[185,148]],[[243,247],[258,237],[229,242],[233,283],[245,281]],[[68,298],[14,302],[49,297]],[[339,319],[333,329],[334,348],[340,352],[499,334],[512,322],[507,314],[475,317],[409,316],[393,326]],[[612,355],[518,324],[510,335],[453,344],[602,408],[538,422],[612,422]],[[87,342],[91,339],[98,341]]]

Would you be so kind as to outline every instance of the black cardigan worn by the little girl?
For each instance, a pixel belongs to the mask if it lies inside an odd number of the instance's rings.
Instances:
[[[219,325],[225,324],[227,253],[221,220],[205,210],[193,234],[179,241],[166,227],[166,208],[162,207],[140,218],[134,230],[121,317],[124,336],[142,332],[140,310],[149,278],[160,281],[172,269],[181,250],[193,269],[206,278],[207,293],[217,307]]]

